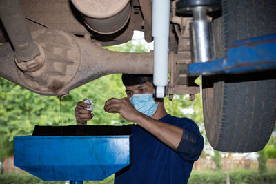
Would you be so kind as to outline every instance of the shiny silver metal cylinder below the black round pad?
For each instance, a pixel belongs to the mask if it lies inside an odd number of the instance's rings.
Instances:
[[[193,8],[193,22],[190,23],[192,58],[194,63],[213,59],[213,33],[210,21],[206,19],[206,7]]]

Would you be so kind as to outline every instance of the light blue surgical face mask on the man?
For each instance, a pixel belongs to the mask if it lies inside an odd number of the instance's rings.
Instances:
[[[158,103],[155,103],[153,99],[153,94],[150,93],[133,94],[130,102],[136,110],[147,116],[153,116],[158,106]]]

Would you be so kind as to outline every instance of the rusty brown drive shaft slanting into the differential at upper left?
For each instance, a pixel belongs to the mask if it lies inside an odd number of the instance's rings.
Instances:
[[[32,39],[19,0],[0,1],[0,17],[19,63],[39,55],[39,48]]]

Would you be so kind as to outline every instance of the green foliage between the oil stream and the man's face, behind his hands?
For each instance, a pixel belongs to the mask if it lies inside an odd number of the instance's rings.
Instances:
[[[126,96],[124,85],[121,83],[121,74],[103,76],[86,85],[82,85],[63,97],[63,116],[65,124],[75,123],[75,105],[77,101],[91,99],[93,101],[94,117],[88,125],[121,125],[126,123],[119,114],[108,114],[103,110],[104,103],[110,98],[123,98]]]

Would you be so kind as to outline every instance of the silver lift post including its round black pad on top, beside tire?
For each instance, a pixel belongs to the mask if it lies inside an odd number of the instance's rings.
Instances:
[[[180,0],[177,2],[177,12],[193,13],[193,21],[190,23],[190,47],[193,63],[215,59],[212,23],[207,19],[207,13],[220,8],[220,0]]]

